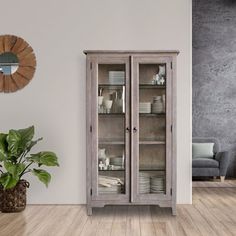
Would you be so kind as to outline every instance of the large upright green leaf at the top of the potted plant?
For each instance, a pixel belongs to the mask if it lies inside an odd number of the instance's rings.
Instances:
[[[34,126],[26,129],[10,130],[7,136],[8,151],[12,156],[19,157],[31,144]]]

